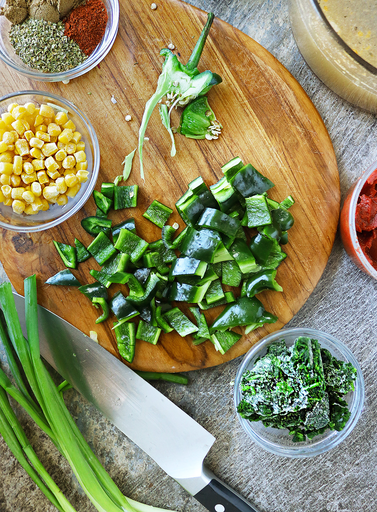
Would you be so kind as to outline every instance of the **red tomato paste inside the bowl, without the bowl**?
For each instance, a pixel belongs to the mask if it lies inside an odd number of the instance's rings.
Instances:
[[[365,257],[377,269],[377,169],[361,189],[356,205],[355,226]]]

